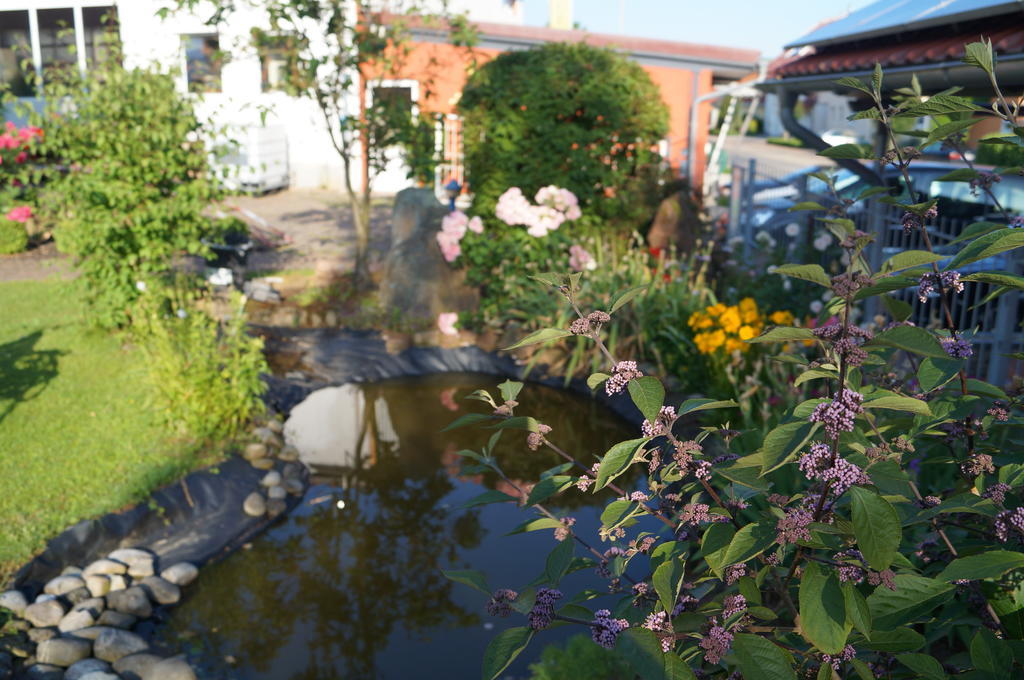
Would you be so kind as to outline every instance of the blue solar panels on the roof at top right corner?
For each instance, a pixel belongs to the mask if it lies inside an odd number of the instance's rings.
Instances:
[[[786,45],[849,42],[1024,9],[1021,0],[878,0]],[[1024,14],[1022,14],[1024,19]]]

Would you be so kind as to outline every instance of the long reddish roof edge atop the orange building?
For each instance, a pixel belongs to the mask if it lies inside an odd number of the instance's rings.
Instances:
[[[393,14],[384,14],[387,22]],[[443,23],[425,24],[417,17],[406,18],[412,28],[446,30]],[[674,40],[656,40],[653,38],[635,38],[631,36],[615,36],[588,31],[564,31],[538,26],[517,26],[514,24],[492,24],[474,22],[473,26],[481,39],[505,39],[523,42],[586,42],[597,47],[613,47],[630,53],[665,54],[682,58],[691,57],[751,66],[757,63],[761,52],[756,49],[741,47],[725,47],[721,45],[703,45],[698,43],[676,42]]]

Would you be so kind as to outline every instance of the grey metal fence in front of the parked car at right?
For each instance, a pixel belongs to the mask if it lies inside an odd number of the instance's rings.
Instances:
[[[765,192],[773,190],[771,185],[781,181],[788,171],[758,164],[750,160],[737,164],[732,169],[729,196],[729,237],[742,239],[751,248],[759,247],[757,239],[760,231],[765,231],[779,244],[793,240],[786,233],[786,226],[793,223],[800,225],[801,238],[808,238],[814,228],[815,215],[811,213],[792,213],[782,217],[783,210],[775,210],[775,219],[766,224],[762,221],[763,213],[768,210],[755,200],[755,196],[764,196]],[[787,201],[799,203],[806,200],[817,200],[807,190],[807,176],[796,178],[787,184],[788,188],[778,190]],[[924,250],[925,244],[920,231],[905,233],[900,218],[902,211],[896,206],[867,201],[862,208],[851,217],[857,228],[877,235],[874,242],[865,251],[865,256],[873,270],[897,252],[904,250]],[[949,219],[940,217],[937,223],[928,227],[932,247],[940,254],[952,256],[957,250],[950,242],[958,237],[964,228],[975,220]],[[1009,271],[1021,274],[1024,272],[1024,254],[1018,249],[1004,253],[981,262],[961,267],[962,274],[974,271]],[[939,262],[942,266],[943,262]],[[1014,291],[987,301],[987,296],[994,287],[990,284],[967,282],[963,293],[952,296],[951,313],[957,328],[973,331],[971,338],[974,344],[974,355],[968,359],[969,375],[984,378],[995,385],[1005,385],[1024,368],[1024,363],[1008,354],[1024,351],[1024,332],[1021,322],[1024,320],[1024,293]],[[918,299],[916,288],[896,291],[891,295],[911,306],[909,321],[922,327],[941,327],[940,305],[922,303]],[[881,309],[874,304],[865,310],[867,318]]]

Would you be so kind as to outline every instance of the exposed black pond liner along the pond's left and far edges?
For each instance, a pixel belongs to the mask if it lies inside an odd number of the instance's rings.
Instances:
[[[344,383],[439,373],[482,373],[518,380],[524,372],[524,367],[510,356],[486,352],[476,346],[412,347],[389,354],[381,336],[372,331],[264,330],[271,331],[279,342],[302,345],[307,354],[310,370],[305,378],[263,377],[268,387],[265,401],[283,415],[311,392]],[[543,368],[535,369],[529,380],[591,393],[583,380],[572,380],[566,386],[563,378],[545,376],[542,371]],[[627,394],[608,397],[599,389],[595,396],[627,422],[639,425],[642,421]],[[278,462],[275,469],[280,471],[285,465],[296,464]],[[306,481],[308,471],[301,464],[299,466],[303,481]],[[246,497],[258,487],[265,474],[266,471],[253,468],[247,461],[231,457],[161,488],[146,503],[80,521],[51,540],[42,554],[23,566],[14,577],[14,587],[35,597],[63,567],[85,566],[118,548],[148,549],[158,556],[161,568],[180,561],[202,566],[210,560],[223,558],[274,520],[266,516],[250,517],[242,510]],[[300,501],[301,497],[289,497],[286,512]]]

